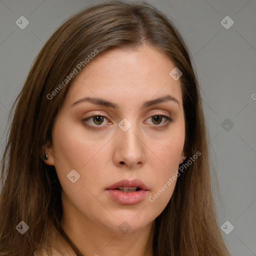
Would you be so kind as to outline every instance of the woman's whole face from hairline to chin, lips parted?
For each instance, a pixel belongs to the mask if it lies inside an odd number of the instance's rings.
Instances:
[[[139,230],[167,205],[185,131],[174,67],[143,45],[106,51],[76,77],[45,148],[70,221]]]

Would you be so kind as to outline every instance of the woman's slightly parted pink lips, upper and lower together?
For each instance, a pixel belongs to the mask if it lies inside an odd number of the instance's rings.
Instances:
[[[108,196],[119,204],[136,204],[148,193],[148,187],[139,179],[122,179],[105,189]]]

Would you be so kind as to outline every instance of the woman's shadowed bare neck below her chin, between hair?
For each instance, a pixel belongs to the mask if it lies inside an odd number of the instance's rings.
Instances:
[[[64,212],[63,212],[64,213]],[[66,221],[68,219],[68,221]],[[152,240],[155,222],[148,223],[142,229],[121,233],[98,226],[84,218],[62,215],[63,231],[70,240],[74,252],[80,256],[152,256]]]

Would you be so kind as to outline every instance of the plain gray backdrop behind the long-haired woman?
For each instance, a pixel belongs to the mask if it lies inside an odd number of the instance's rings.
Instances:
[[[31,63],[52,32],[95,0],[0,0],[0,151],[9,109]],[[210,135],[218,223],[233,256],[256,255],[256,2],[255,0],[148,1],[182,34],[198,76]],[[25,16],[20,29],[15,21]],[[226,29],[221,20],[234,24]],[[233,126],[232,126],[233,125]],[[223,230],[230,230],[230,224]],[[222,231],[221,231],[222,232]]]

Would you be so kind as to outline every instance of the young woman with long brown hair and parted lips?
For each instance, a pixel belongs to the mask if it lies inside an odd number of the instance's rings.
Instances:
[[[229,255],[188,49],[153,6],[73,15],[14,105],[0,255]]]

